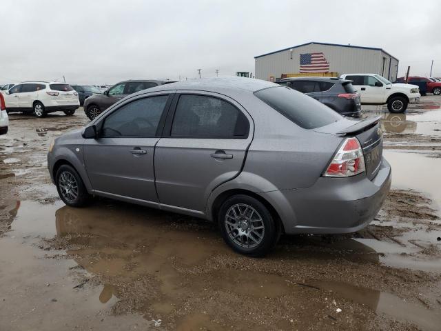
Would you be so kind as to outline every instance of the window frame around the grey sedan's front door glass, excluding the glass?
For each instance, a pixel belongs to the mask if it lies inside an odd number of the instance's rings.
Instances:
[[[161,97],[161,96],[164,96],[164,95],[168,96],[168,98],[167,98],[167,101],[165,102],[164,110],[163,110],[163,113],[161,114],[161,117],[159,118],[158,128],[156,128],[156,133],[154,135],[145,135],[145,136],[106,136],[106,137],[102,136],[102,129],[103,129],[103,125],[105,123],[105,120],[107,119],[107,117],[109,117],[114,112],[117,112],[122,107],[124,107],[124,106],[126,106],[129,103],[132,103],[134,101],[138,101],[138,100],[141,100],[141,99],[147,99],[147,98],[153,98],[153,97]],[[168,112],[170,110],[170,105],[171,105],[173,99],[174,99],[174,92],[172,92],[172,91],[164,91],[164,93],[154,94],[154,95],[142,94],[140,96],[128,99],[127,101],[119,104],[117,107],[112,108],[112,110],[108,114],[105,114],[105,116],[103,116],[103,118],[101,118],[100,121],[95,124],[96,128],[97,128],[97,132],[98,132],[97,139],[106,139],[106,138],[112,138],[112,139],[113,138],[134,138],[134,139],[139,139],[139,138],[141,138],[141,139],[142,138],[160,138],[161,134],[163,132],[163,128],[164,128],[164,124],[165,124],[165,119],[166,119],[167,114],[168,114]]]

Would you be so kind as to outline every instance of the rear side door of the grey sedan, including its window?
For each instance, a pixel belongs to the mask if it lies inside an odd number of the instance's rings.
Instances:
[[[182,91],[156,144],[156,190],[162,209],[205,212],[209,194],[240,173],[252,119],[234,100]]]

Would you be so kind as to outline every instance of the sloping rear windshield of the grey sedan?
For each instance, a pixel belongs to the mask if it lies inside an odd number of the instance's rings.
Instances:
[[[324,104],[283,86],[265,88],[254,95],[304,129],[320,128],[342,119]]]

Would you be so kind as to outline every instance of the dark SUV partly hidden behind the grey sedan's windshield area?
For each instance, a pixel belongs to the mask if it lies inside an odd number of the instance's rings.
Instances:
[[[84,112],[89,119],[94,119],[101,114],[101,112],[116,103],[116,101],[127,97],[129,94],[168,83],[174,83],[174,81],[156,79],[131,79],[129,81],[121,81],[112,86],[109,90],[103,92],[103,94],[95,94],[85,99],[83,105]]]

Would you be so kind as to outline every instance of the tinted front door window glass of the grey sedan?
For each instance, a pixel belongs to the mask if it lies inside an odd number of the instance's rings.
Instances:
[[[158,95],[121,106],[105,118],[101,137],[155,137],[167,99]]]

